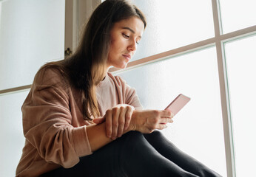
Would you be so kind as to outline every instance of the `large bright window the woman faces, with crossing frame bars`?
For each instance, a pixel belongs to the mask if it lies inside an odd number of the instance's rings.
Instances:
[[[137,89],[146,108],[164,108],[180,92],[188,93],[192,100],[200,100],[201,94],[205,97],[210,95],[209,103],[201,100],[205,105],[201,105],[201,102],[186,105],[174,124],[164,131],[166,136],[181,149],[198,159],[202,158],[202,162],[223,176],[244,176],[246,170],[252,176],[254,172],[249,171],[248,167],[255,166],[255,158],[252,158],[255,157],[255,131],[252,129],[252,126],[255,127],[255,120],[252,119],[254,109],[244,103],[255,100],[254,93],[248,95],[249,90],[255,90],[256,63],[252,59],[255,58],[255,37],[249,37],[256,34],[255,1],[132,1],[147,16],[148,26],[138,46],[137,57],[128,64],[127,69],[112,69],[112,72],[120,74]],[[238,39],[240,41],[236,41]],[[197,75],[199,71],[203,76]],[[213,79],[216,77],[218,82]],[[208,84],[210,89],[204,84]],[[201,94],[196,94],[197,90]],[[168,91],[171,94],[167,94]],[[243,95],[246,96],[241,97]],[[198,114],[197,117],[201,124],[190,122],[196,130],[189,129],[186,127],[188,112],[192,113],[201,106],[205,111],[205,114]],[[220,110],[221,114],[218,112]],[[214,112],[215,115],[212,115]],[[214,130],[209,128],[209,120],[206,121],[205,117],[209,115],[216,121]],[[242,117],[245,119],[243,123]],[[201,152],[197,147],[186,149],[191,142],[186,137],[187,133],[181,130],[186,127],[189,133],[195,135],[201,126],[209,129],[197,134],[196,137],[201,139],[197,142],[198,146],[218,139],[220,147],[219,151],[214,152],[215,155],[209,155],[211,152],[207,148]],[[211,136],[211,132],[218,132],[218,135]],[[207,137],[203,133],[207,133]],[[246,141],[244,136],[251,138]],[[186,140],[180,142],[179,138]],[[201,153],[209,156],[203,159]],[[223,168],[224,154],[226,169]],[[210,156],[219,158],[213,161]],[[245,161],[250,164],[245,164]]]

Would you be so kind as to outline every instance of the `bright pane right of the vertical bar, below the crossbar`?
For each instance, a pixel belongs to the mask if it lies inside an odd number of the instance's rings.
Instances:
[[[225,45],[238,177],[256,176],[256,36]]]

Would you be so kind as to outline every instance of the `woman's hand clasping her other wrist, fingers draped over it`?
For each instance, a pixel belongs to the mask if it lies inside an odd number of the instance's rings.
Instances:
[[[134,107],[132,105],[120,104],[106,111],[104,117],[93,119],[93,122],[100,124],[106,121],[107,136],[111,139],[121,137],[124,131],[129,128]]]

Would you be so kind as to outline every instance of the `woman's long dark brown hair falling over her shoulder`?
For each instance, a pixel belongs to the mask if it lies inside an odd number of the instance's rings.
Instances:
[[[114,23],[132,16],[141,18],[146,27],[143,13],[129,1],[104,1],[92,13],[75,53],[65,60],[47,64],[59,69],[71,86],[81,91],[84,119],[99,116],[95,86],[107,72],[110,30]]]

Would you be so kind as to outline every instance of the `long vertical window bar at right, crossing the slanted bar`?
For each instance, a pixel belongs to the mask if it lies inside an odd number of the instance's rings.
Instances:
[[[218,74],[220,82],[220,100],[223,117],[223,131],[226,150],[226,172],[227,176],[235,177],[235,151],[232,138],[232,119],[229,106],[229,87],[226,73],[226,62],[224,58],[223,43],[220,41],[222,35],[220,6],[218,0],[212,0],[212,13],[215,26],[215,44],[218,59]]]

